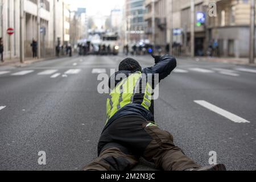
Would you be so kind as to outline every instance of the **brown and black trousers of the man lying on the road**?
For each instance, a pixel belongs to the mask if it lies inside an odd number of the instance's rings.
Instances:
[[[134,119],[137,119],[135,125],[141,126],[141,133],[139,133],[140,130],[126,129],[122,124],[134,121]],[[98,158],[85,166],[84,171],[128,171],[138,164],[139,157],[154,163],[156,169],[164,171],[183,171],[188,168],[200,167],[174,145],[174,138],[167,131],[163,131],[157,126],[146,127],[149,122],[138,117],[130,116],[121,120],[123,122],[115,123],[113,129],[108,131],[108,135],[111,135],[113,140],[100,149]],[[114,133],[119,136],[113,137]],[[129,138],[127,139],[127,137]],[[105,138],[102,134],[100,141]],[[131,140],[131,143],[127,140]],[[108,140],[105,139],[105,141]],[[143,146],[144,143],[146,143],[146,148],[141,149],[140,146]]]

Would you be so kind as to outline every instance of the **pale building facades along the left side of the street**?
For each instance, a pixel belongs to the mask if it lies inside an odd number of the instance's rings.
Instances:
[[[55,1],[55,4],[54,4]],[[32,39],[38,39],[40,17],[40,55],[54,56],[57,41],[69,42],[69,13],[64,0],[23,0],[24,10],[24,56],[32,57]],[[39,5],[38,5],[39,2]],[[3,38],[4,56],[13,59],[20,56],[20,1],[0,0],[0,37]],[[7,35],[7,28],[14,34]],[[55,40],[54,40],[55,39]]]

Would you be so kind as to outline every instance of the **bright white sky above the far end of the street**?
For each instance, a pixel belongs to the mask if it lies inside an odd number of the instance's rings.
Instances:
[[[77,7],[86,7],[88,15],[109,15],[110,10],[115,7],[121,8],[124,0],[65,0],[71,4],[71,9],[76,10]]]

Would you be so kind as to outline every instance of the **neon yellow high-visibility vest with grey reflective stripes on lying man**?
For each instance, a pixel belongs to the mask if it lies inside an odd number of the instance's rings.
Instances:
[[[113,117],[115,113],[122,107],[133,103],[134,96],[138,93],[139,90],[139,83],[142,78],[141,72],[136,72],[130,75],[129,77],[122,80],[117,86],[115,86],[114,90],[109,94],[109,98],[107,99],[106,103],[106,115],[107,121]],[[146,88],[144,90],[144,98],[142,101],[142,106],[149,110],[151,106],[151,94],[152,94],[152,87],[147,82]]]

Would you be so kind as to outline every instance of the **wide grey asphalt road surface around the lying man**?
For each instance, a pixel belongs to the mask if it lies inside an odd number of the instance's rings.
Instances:
[[[106,94],[98,73],[123,56],[65,57],[0,67],[0,169],[81,170],[97,156]],[[143,67],[149,56],[138,56]],[[229,170],[256,169],[256,68],[177,59],[160,83],[155,118],[201,165],[215,151]],[[229,113],[227,113],[229,112]],[[46,152],[46,165],[38,152]],[[135,169],[151,170],[140,164]]]

